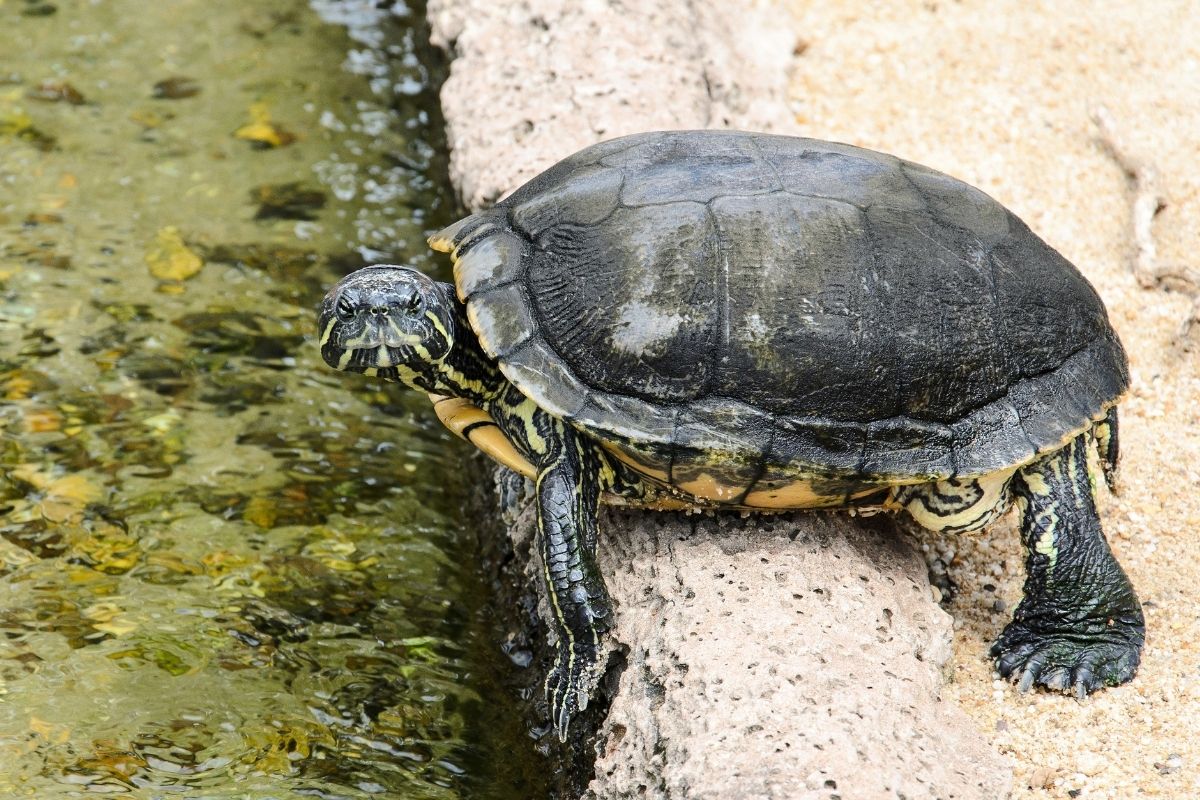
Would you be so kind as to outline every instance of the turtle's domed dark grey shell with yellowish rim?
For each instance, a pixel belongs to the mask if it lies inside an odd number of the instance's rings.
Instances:
[[[1014,468],[1128,385],[1069,261],[979,190],[848,145],[624,137],[431,243],[522,392],[722,500]]]

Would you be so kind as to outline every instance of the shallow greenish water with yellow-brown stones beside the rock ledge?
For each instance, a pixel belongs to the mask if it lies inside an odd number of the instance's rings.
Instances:
[[[545,796],[463,446],[312,342],[444,275],[422,18],[0,2],[0,796]]]

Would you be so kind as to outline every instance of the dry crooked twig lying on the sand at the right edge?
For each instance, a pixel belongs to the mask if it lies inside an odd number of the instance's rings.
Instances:
[[[1165,207],[1158,187],[1158,169],[1147,161],[1134,157],[1121,140],[1112,114],[1104,106],[1092,112],[1092,121],[1100,132],[1100,144],[1124,172],[1133,187],[1133,239],[1136,248],[1133,273],[1142,289],[1165,289],[1192,297],[1192,311],[1180,329],[1180,342],[1190,349],[1193,329],[1200,330],[1200,273],[1182,265],[1158,264],[1154,246],[1154,217]]]

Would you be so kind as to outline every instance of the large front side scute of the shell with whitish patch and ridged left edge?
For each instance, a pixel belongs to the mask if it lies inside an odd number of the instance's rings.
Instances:
[[[695,399],[713,372],[698,354],[720,325],[716,248],[700,203],[556,227],[528,261],[541,335],[601,392]]]

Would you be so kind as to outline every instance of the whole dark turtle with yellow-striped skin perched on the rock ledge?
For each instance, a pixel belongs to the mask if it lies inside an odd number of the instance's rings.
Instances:
[[[980,190],[847,144],[650,132],[428,243],[454,284],[348,275],[320,351],[427,392],[533,480],[559,738],[613,625],[601,501],[887,510],[954,533],[1015,506],[1027,575],[998,673],[1080,697],[1134,676],[1145,621],[1093,475],[1115,488],[1128,361],[1087,279]]]

